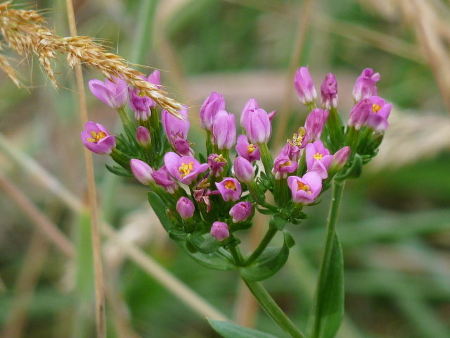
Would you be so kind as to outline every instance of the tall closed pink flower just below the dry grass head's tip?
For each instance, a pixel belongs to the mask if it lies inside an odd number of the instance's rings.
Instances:
[[[179,114],[183,118],[176,118],[174,115],[166,111],[162,111],[162,127],[169,139],[169,143],[174,147],[176,152],[181,156],[192,156],[193,150],[188,142],[188,131],[191,124],[188,120],[188,109],[183,107]]]

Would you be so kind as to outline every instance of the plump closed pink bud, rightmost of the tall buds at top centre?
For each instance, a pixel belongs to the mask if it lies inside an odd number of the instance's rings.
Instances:
[[[245,132],[252,143],[267,143],[272,134],[269,115],[262,108],[247,111],[242,121]]]

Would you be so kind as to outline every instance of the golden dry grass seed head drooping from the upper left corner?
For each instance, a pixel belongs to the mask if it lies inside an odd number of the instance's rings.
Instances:
[[[45,19],[35,10],[11,8],[11,1],[0,4],[0,32],[8,46],[20,56],[36,54],[54,87],[56,78],[51,67],[51,60],[58,52],[67,54],[71,67],[77,64],[88,65],[101,71],[106,78],[122,77],[131,86],[138,88],[141,94],[156,101],[169,113],[181,117],[178,111],[182,105],[167,97],[164,90],[143,80],[143,73],[128,66],[128,62],[121,56],[109,53],[101,44],[94,42],[91,37],[75,36],[60,37],[45,26]],[[6,75],[18,84],[13,68],[2,56],[0,68]]]

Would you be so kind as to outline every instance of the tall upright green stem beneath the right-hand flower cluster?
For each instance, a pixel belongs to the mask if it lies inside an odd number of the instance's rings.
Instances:
[[[336,225],[338,224],[338,215],[340,201],[342,199],[342,193],[344,192],[345,180],[333,180],[333,192],[331,193],[330,213],[328,214],[328,221],[326,225],[326,239],[325,239],[325,251],[321,261],[321,267],[319,270],[319,277],[317,278],[316,285],[316,306],[314,308],[314,327],[311,334],[311,338],[319,337],[320,331],[320,304],[318,304],[319,292],[321,285],[325,282],[323,279],[326,277],[326,272],[330,268],[331,253],[333,252],[333,244],[335,240]]]

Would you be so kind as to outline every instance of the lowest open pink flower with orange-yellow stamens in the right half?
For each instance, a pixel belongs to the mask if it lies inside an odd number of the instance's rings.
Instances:
[[[288,186],[293,194],[295,203],[304,205],[314,202],[322,189],[321,177],[314,171],[306,173],[303,177],[289,176]]]

